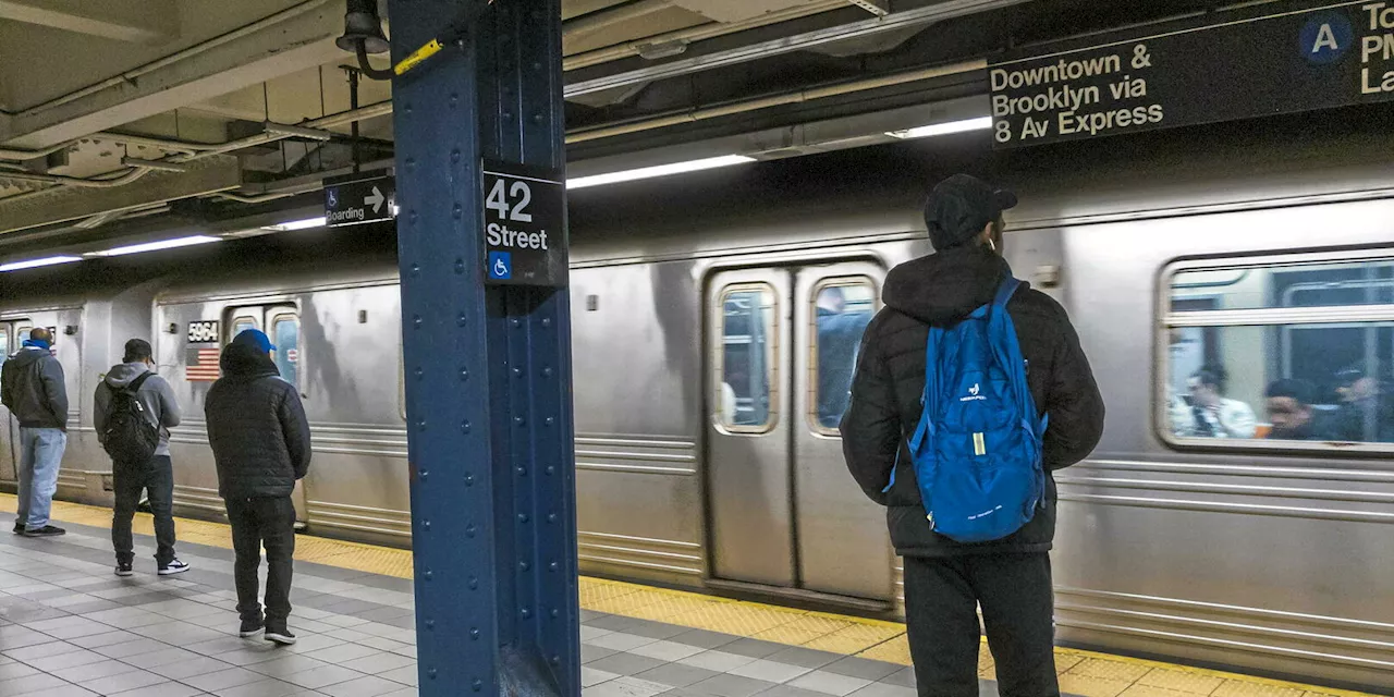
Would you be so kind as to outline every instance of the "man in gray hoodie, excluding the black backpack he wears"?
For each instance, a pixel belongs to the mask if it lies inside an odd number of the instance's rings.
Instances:
[[[159,443],[155,446],[155,456],[149,461],[114,461],[112,463],[113,489],[116,492],[116,510],[112,516],[112,546],[116,548],[116,574],[131,576],[135,560],[134,542],[131,539],[131,519],[135,517],[135,506],[141,500],[141,489],[149,492],[151,513],[155,514],[155,562],[160,576],[176,574],[188,570],[188,565],[174,558],[174,466],[170,461],[170,427],[180,422],[178,401],[169,382],[155,374],[155,360],[152,358],[149,342],[131,339],[125,342],[125,355],[123,362],[113,365],[106,378],[96,386],[96,408],[92,421],[96,427],[98,439],[106,445],[109,427],[113,424],[113,408],[118,390],[134,388],[137,410],[159,432]],[[144,379],[142,379],[144,378]],[[116,452],[116,450],[113,450]],[[146,450],[149,452],[149,450]]]

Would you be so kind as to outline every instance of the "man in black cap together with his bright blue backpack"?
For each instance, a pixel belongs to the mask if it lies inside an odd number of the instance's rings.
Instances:
[[[1058,696],[1051,471],[1098,443],[1104,403],[1065,309],[1001,256],[1016,197],[958,174],[924,219],[935,254],[891,270],[842,420],[852,477],[905,558],[921,696],[976,697],[981,606],[1004,697]]]

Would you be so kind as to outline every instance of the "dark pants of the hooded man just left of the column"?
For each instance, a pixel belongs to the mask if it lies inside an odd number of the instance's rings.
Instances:
[[[296,503],[290,496],[229,498],[227,523],[233,526],[233,579],[237,613],[243,620],[262,618],[256,602],[256,567],[266,548],[266,627],[284,629],[290,616],[290,572],[296,553]]]

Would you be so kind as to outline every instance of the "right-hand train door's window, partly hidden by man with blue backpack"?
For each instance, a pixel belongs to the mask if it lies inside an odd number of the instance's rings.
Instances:
[[[832,435],[850,400],[861,333],[875,314],[875,286],[864,276],[825,279],[810,301],[809,410],[814,428]]]

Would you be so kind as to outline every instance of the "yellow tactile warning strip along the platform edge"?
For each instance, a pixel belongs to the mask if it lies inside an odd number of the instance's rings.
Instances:
[[[0,493],[0,510],[13,513],[14,509],[14,496]],[[112,510],[56,500],[53,519],[110,527]],[[226,524],[190,519],[177,519],[177,524],[180,541],[224,549],[233,546]],[[134,530],[153,535],[151,516],[138,513]],[[411,552],[406,549],[298,535],[296,559],[399,579],[411,577]],[[761,605],[584,576],[580,580],[580,604],[595,612],[910,665],[905,625],[896,622]],[[1072,648],[1055,650],[1055,668],[1061,690],[1085,697],[1373,697]],[[979,657],[979,675],[988,679],[994,676],[993,655],[987,644]]]

